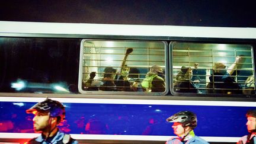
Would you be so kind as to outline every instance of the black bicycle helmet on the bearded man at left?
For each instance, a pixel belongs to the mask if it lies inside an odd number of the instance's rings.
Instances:
[[[50,117],[60,117],[60,121],[65,119],[65,107],[59,101],[49,98],[26,110],[27,113],[35,113],[37,111],[50,112]]]

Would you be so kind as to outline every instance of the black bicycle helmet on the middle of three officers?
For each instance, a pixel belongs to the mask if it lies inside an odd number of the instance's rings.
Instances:
[[[181,123],[183,127],[190,126],[192,129],[197,126],[197,116],[191,111],[180,111],[168,117],[167,121],[170,123],[178,122]]]

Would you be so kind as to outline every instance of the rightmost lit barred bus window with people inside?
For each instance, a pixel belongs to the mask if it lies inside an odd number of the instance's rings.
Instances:
[[[172,42],[172,93],[255,94],[252,46]]]

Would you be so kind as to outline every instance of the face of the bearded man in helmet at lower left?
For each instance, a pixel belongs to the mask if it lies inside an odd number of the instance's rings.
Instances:
[[[49,126],[49,113],[46,112],[37,112],[34,116],[34,130],[36,132],[44,131]]]

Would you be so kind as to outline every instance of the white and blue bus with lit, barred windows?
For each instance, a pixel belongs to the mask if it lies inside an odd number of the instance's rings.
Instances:
[[[256,108],[256,28],[0,21],[0,142],[38,136],[25,110],[60,101],[79,143],[164,143],[166,119],[233,143]]]

